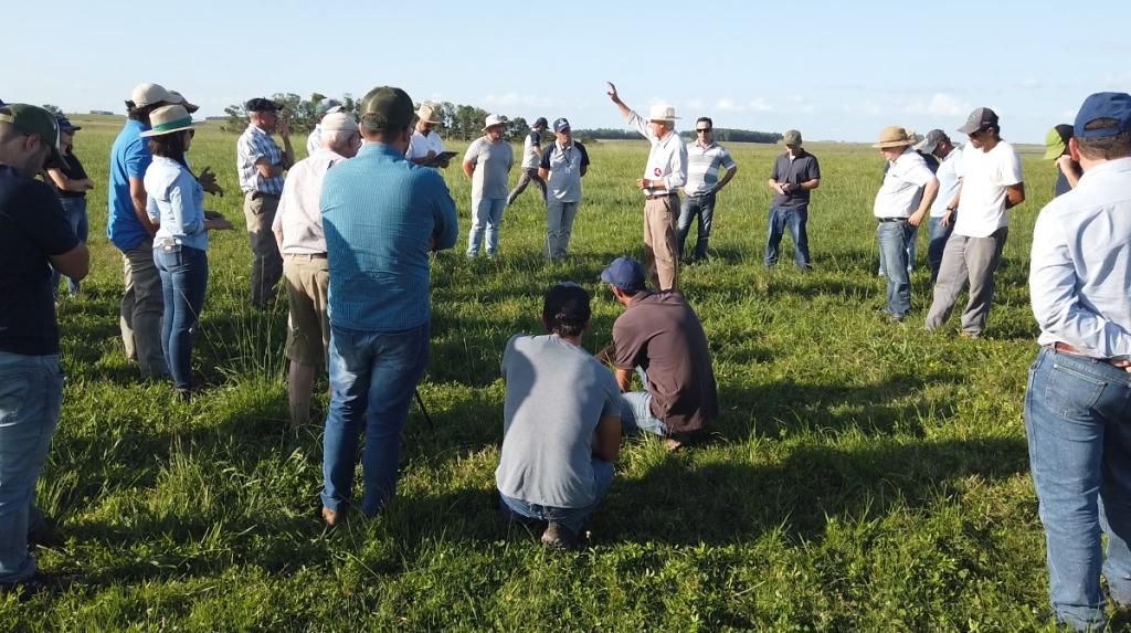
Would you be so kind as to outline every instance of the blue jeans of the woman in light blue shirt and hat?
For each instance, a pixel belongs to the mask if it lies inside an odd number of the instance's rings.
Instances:
[[[192,335],[205,306],[208,287],[208,253],[180,246],[165,252],[153,250],[153,261],[161,274],[161,291],[165,298],[165,315],[161,324],[161,350],[169,363],[173,384],[181,390],[192,387]]]

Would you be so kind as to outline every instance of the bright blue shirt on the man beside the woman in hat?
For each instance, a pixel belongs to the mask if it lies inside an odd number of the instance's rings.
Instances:
[[[141,226],[130,198],[130,179],[143,180],[146,168],[153,162],[149,144],[141,138],[141,132],[148,130],[149,125],[129,119],[110,148],[106,237],[122,252],[136,249],[149,240],[149,233]]]

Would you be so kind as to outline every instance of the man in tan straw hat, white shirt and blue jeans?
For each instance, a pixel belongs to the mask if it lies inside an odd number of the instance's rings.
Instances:
[[[883,184],[875,193],[872,215],[879,220],[875,241],[880,245],[883,276],[888,280],[888,316],[903,323],[912,309],[912,280],[907,269],[908,244],[923,222],[935,196],[939,180],[923,157],[912,149],[907,131],[899,125],[884,128],[873,145],[888,162]]]

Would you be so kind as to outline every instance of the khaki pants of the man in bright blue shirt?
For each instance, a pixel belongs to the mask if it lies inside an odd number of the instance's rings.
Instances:
[[[122,330],[126,357],[137,362],[144,378],[165,375],[169,366],[161,350],[161,319],[165,297],[161,274],[153,262],[153,241],[122,252],[123,281],[118,324]]]

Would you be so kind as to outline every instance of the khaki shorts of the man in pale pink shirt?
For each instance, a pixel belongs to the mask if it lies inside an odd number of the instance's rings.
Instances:
[[[284,255],[283,278],[291,304],[286,356],[295,363],[327,366],[330,320],[327,316],[330,270],[326,255]]]

